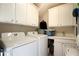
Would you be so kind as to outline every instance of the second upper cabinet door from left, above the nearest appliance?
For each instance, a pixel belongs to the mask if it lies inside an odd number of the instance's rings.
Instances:
[[[16,3],[16,23],[26,25],[26,4]]]

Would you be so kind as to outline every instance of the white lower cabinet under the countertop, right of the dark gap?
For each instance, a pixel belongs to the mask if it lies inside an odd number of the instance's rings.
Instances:
[[[68,46],[75,46],[75,40],[54,39],[54,56],[64,56]]]

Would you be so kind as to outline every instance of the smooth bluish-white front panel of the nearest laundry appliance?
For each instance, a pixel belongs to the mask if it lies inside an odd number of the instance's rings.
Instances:
[[[37,56],[37,41],[14,48],[13,56]]]

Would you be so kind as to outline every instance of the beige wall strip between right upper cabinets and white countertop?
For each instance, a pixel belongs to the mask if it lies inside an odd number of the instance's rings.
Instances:
[[[56,27],[56,36],[75,36],[74,27]]]

